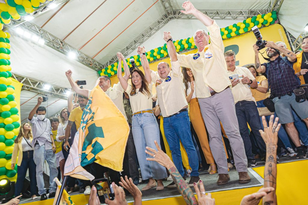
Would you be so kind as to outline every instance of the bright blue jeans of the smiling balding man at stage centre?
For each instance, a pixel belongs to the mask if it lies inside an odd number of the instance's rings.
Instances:
[[[190,175],[199,176],[198,156],[192,140],[188,112],[180,112],[171,117],[164,117],[164,132],[171,150],[173,162],[180,175],[184,176],[180,151],[181,140],[188,156],[189,166],[192,168]]]

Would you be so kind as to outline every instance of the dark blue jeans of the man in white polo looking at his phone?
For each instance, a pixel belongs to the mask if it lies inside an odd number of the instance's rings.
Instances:
[[[251,148],[251,141],[249,137],[248,125],[251,128],[250,135],[256,145],[259,154],[265,156],[266,146],[262,139],[259,130],[262,129],[259,112],[254,101],[239,101],[235,104],[235,111],[237,116],[240,134],[244,142],[245,153],[247,159],[254,159]]]

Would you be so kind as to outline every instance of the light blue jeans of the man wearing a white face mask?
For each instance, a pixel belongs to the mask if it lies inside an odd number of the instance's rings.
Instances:
[[[49,165],[49,193],[56,191],[56,183],[53,181],[58,176],[56,156],[52,149],[45,149],[45,145],[35,145],[33,159],[36,164],[36,182],[39,188],[39,195],[46,194],[44,189],[44,161],[47,160]]]

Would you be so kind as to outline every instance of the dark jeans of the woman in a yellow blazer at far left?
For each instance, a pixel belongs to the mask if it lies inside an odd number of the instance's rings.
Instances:
[[[29,168],[31,196],[36,195],[36,165],[33,160],[33,150],[22,152],[22,162],[17,166],[17,181],[15,184],[15,196],[19,196]]]

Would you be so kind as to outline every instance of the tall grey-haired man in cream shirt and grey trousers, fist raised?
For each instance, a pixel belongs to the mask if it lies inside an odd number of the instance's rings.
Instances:
[[[199,19],[209,30],[197,30],[193,35],[198,52],[188,55],[177,55],[180,66],[190,68],[195,77],[196,97],[200,105],[205,126],[209,132],[210,148],[218,165],[217,184],[228,183],[228,164],[224,146],[221,140],[220,121],[229,137],[235,167],[239,173],[239,182],[250,182],[247,173],[247,158],[244,143],[239,132],[235,113],[235,104],[231,89],[231,82],[227,73],[220,28],[217,23],[198,11],[191,2],[186,1],[182,7],[184,14],[192,14]],[[219,73],[219,75],[217,75]]]

